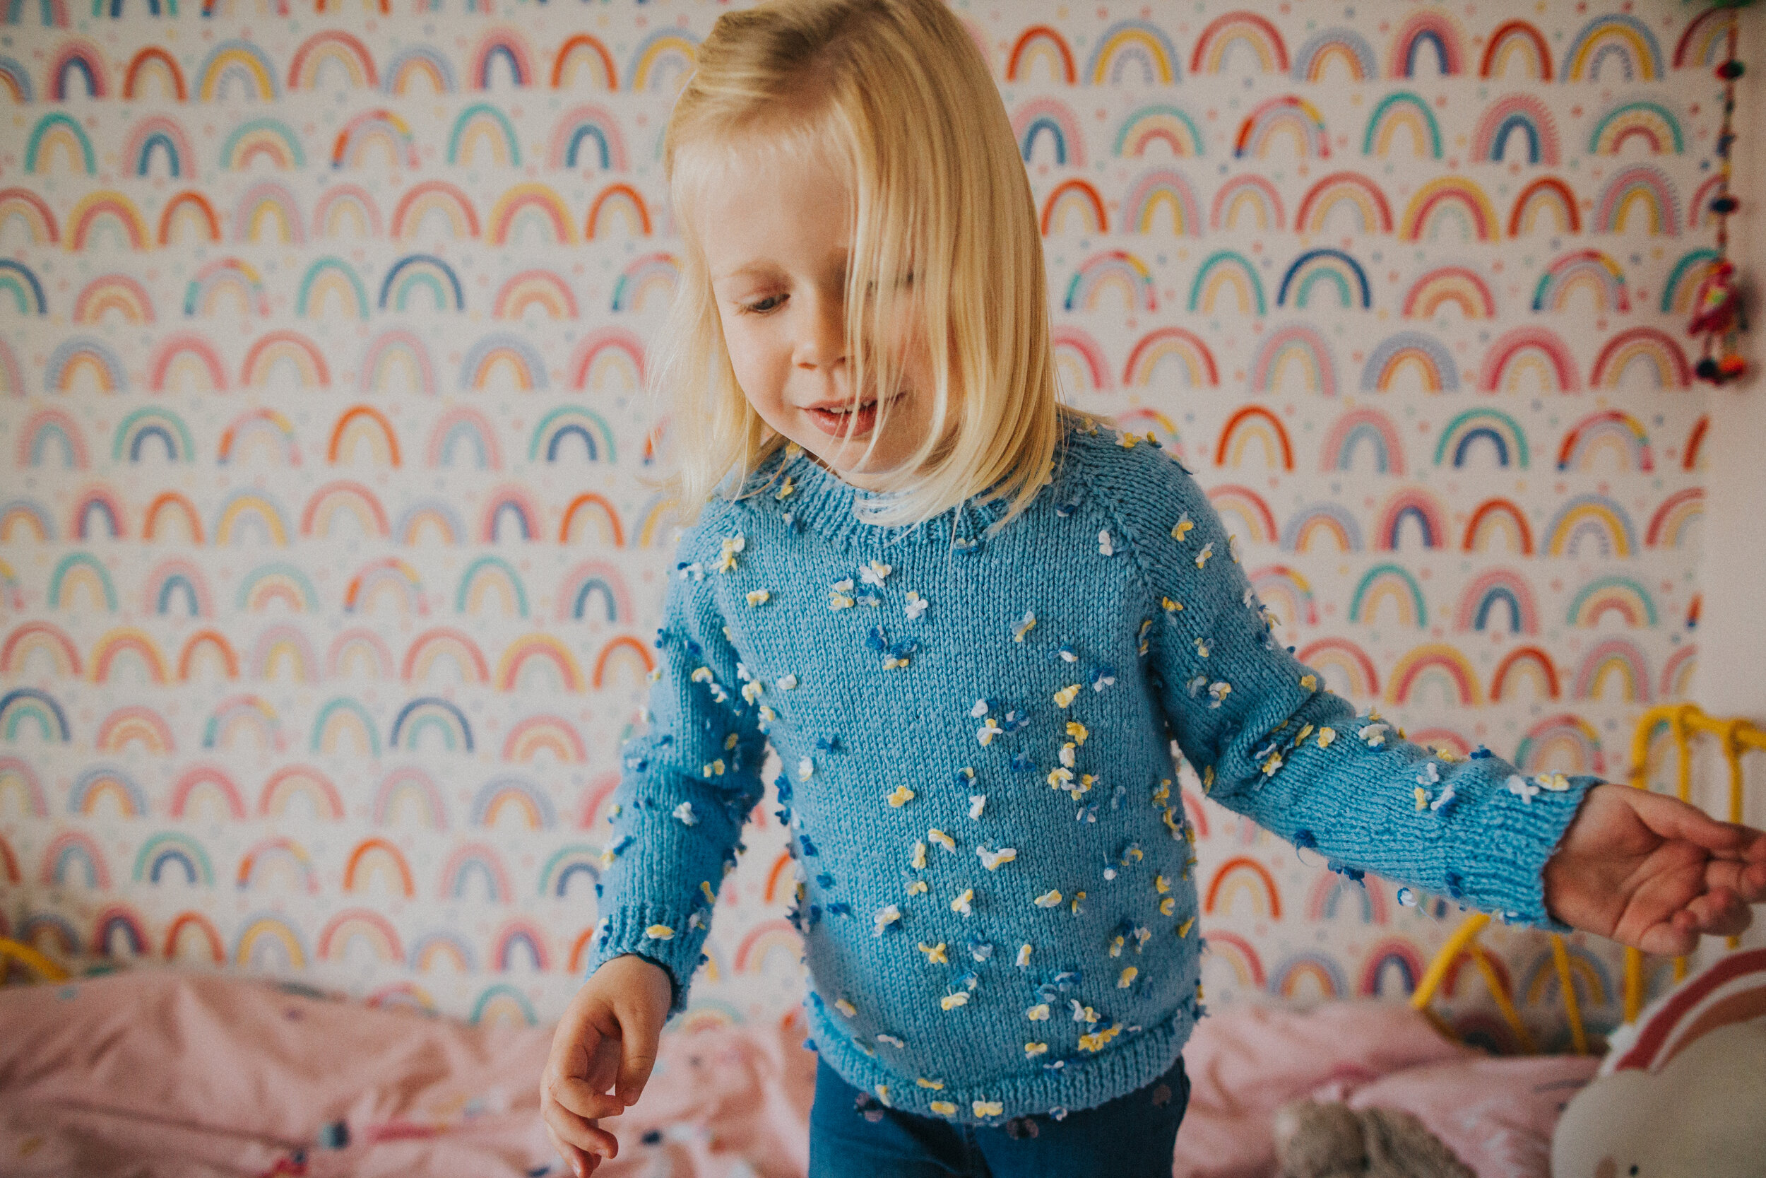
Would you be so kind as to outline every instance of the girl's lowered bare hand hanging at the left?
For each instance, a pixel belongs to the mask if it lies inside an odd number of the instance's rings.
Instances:
[[[540,1077],[540,1116],[579,1178],[620,1152],[595,1121],[638,1104],[673,998],[668,970],[627,954],[602,963],[563,1012]]]

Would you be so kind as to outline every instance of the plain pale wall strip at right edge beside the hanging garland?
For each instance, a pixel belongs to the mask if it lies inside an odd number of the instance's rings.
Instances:
[[[1731,253],[1752,288],[1754,334],[1745,353],[1754,373],[1711,399],[1706,438],[1704,616],[1699,622],[1697,703],[1717,715],[1766,721],[1766,12],[1743,9],[1736,95]],[[1752,766],[1750,766],[1752,768]]]

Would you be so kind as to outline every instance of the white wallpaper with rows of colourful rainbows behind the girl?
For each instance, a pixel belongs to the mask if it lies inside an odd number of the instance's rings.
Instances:
[[[5,4],[0,933],[562,1008],[671,558],[660,132],[722,7]],[[1332,687],[1621,775],[1697,657],[1727,16],[954,7],[1067,396],[1197,472]],[[1402,994],[1452,929],[1185,802],[1215,1003]],[[796,1003],[770,811],[683,1024]]]

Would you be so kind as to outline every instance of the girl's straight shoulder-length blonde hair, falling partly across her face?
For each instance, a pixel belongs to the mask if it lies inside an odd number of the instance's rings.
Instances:
[[[770,0],[717,18],[664,138],[685,258],[648,380],[673,406],[676,512],[694,517],[786,443],[736,383],[691,228],[735,150],[781,162],[819,152],[848,177],[846,355],[855,401],[879,390],[872,445],[901,364],[862,341],[909,323],[929,350],[931,427],[864,502],[867,519],[913,523],[975,496],[1007,503],[1000,523],[1023,510],[1068,412],[1056,404],[1037,207],[987,64],[941,0]]]

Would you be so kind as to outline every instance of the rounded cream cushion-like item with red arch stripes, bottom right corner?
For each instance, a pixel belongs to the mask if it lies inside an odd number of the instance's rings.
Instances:
[[[1766,948],[1722,957],[1612,1035],[1558,1121],[1551,1171],[1766,1174]]]

